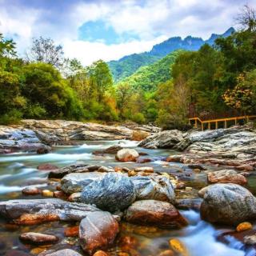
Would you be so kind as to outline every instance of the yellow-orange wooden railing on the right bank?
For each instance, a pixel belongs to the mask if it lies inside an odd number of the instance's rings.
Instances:
[[[194,125],[194,128],[198,128],[201,126],[201,130],[205,130],[208,128],[209,130],[214,127],[214,129],[218,129],[219,124],[222,125],[223,128],[228,128],[230,123],[232,125],[237,125],[240,120],[244,122],[249,122],[250,119],[256,118],[256,115],[244,115],[241,117],[234,117],[234,118],[219,118],[219,119],[212,119],[212,120],[204,120],[202,121],[200,118],[189,118],[190,125]]]

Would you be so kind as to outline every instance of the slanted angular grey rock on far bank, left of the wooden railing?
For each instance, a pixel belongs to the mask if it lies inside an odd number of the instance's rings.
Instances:
[[[182,141],[182,132],[179,130],[164,130],[151,135],[138,144],[148,149],[173,148]]]

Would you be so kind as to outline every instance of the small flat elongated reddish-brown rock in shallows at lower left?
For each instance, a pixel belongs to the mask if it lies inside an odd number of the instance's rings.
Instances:
[[[58,242],[58,238],[54,235],[34,232],[23,233],[19,238],[22,242],[32,243],[35,245],[46,245]]]

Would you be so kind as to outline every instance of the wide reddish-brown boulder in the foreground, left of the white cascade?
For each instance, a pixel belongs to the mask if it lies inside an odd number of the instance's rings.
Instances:
[[[153,225],[161,228],[186,226],[186,219],[169,202],[142,200],[134,202],[125,213],[125,220],[139,225]]]

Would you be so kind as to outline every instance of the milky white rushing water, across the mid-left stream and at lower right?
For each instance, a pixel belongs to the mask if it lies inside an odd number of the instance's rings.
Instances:
[[[119,145],[123,147],[136,147],[138,142],[114,141],[114,142],[86,142],[82,146],[57,146],[50,154],[10,154],[0,157],[0,194],[1,198],[5,194],[20,191],[24,187],[24,182],[37,182],[46,178],[47,172],[38,171],[37,166],[40,163],[50,162],[57,166],[65,166],[74,162],[86,162],[88,164],[117,164],[113,156],[99,157],[92,154],[94,150],[104,149],[109,146]],[[139,149],[139,151],[142,149]],[[144,150],[153,156],[168,155],[166,150]],[[169,153],[170,154],[170,153]],[[164,162],[155,161],[146,165],[161,166]],[[127,164],[127,163],[126,163]],[[134,165],[134,163],[129,163]],[[170,163],[171,165],[171,163]],[[37,186],[46,186],[41,183]],[[6,195],[7,198],[8,195]],[[237,241],[230,241],[230,246],[216,241],[218,230],[207,222],[200,219],[200,215],[193,211],[182,211],[182,214],[188,219],[190,225],[182,230],[170,230],[168,237],[166,235],[160,238],[153,238],[151,246],[153,251],[161,247],[162,242],[170,238],[180,239],[190,251],[190,256],[252,256],[239,250],[241,245]]]

